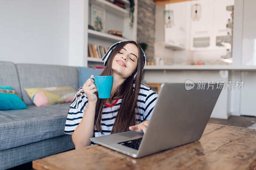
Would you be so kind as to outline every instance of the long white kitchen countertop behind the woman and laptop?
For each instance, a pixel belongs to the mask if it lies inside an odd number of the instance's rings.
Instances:
[[[144,70],[247,70],[256,71],[256,66],[232,66],[232,65],[164,65],[145,66]]]

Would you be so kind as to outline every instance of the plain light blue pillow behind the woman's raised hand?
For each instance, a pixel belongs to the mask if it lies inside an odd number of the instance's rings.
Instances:
[[[79,71],[79,87],[84,86],[84,83],[91,78],[91,75],[99,76],[104,69],[93,69],[89,67],[78,67]]]

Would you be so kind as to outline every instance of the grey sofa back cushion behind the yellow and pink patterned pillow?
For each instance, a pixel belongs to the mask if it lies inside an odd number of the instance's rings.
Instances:
[[[71,86],[79,88],[78,68],[44,64],[16,64],[22,100],[33,104],[24,88]]]

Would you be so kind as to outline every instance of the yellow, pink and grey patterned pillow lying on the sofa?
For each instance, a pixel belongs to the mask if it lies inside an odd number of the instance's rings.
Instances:
[[[37,106],[71,102],[76,90],[72,87],[24,88],[32,102]]]

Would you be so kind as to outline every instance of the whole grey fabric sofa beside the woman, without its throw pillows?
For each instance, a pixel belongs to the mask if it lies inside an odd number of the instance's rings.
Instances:
[[[70,103],[36,107],[23,88],[79,88],[77,67],[0,61],[0,85],[11,86],[28,106],[0,110],[0,170],[74,149],[64,133]]]

